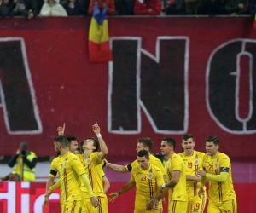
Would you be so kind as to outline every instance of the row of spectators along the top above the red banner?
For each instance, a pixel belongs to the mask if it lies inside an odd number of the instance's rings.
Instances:
[[[90,16],[94,3],[108,15],[253,15],[256,0],[0,0],[1,17]]]

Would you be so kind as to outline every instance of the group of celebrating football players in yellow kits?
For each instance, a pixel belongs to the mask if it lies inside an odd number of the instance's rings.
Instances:
[[[183,135],[183,153],[175,153],[176,141],[172,137],[163,138],[160,151],[165,159],[164,164],[152,154],[153,141],[139,138],[137,159],[124,166],[104,161],[108,147],[102,139],[98,124],[94,124],[92,129],[98,141],[93,137],[82,141],[82,153],[76,155],[73,153],[78,141],[64,136],[65,124],[57,129],[59,136],[54,143],[59,157],[51,164],[45,208],[50,194],[61,187],[62,213],[107,213],[108,201],[112,202],[120,194],[136,187],[134,213],[162,213],[166,203],[168,213],[202,213],[207,197],[207,213],[237,212],[230,158],[218,152],[218,136],[212,135],[205,140],[207,153],[195,151],[193,135]],[[100,152],[97,152],[99,148]],[[108,197],[109,182],[102,169],[104,165],[118,172],[131,172],[131,180]],[[60,179],[54,184],[57,173]],[[207,181],[208,195],[205,187]]]

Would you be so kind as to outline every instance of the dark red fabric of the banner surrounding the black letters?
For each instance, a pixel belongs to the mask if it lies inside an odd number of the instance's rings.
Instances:
[[[186,37],[189,53],[189,60],[187,60],[189,101],[186,119],[188,127],[184,132],[195,135],[198,150],[205,151],[204,139],[208,135],[218,135],[221,139],[221,152],[227,153],[231,158],[253,160],[255,133],[246,133],[242,130],[235,133],[224,130],[211,117],[206,102],[207,63],[212,52],[232,39],[253,40],[256,32],[253,29],[252,18],[109,17],[108,22],[110,37],[126,37],[125,39],[139,37],[142,51],[144,49],[151,55],[156,55],[157,37]],[[89,23],[88,17],[36,18],[29,21],[19,18],[1,20],[1,39],[10,37],[24,39],[27,66],[35,92],[38,124],[41,130],[37,133],[20,133],[19,131],[10,133],[2,106],[0,155],[15,153],[20,141],[28,142],[38,156],[55,155],[53,141],[56,128],[64,122],[68,135],[77,135],[79,139],[84,139],[93,135],[91,125],[97,121],[101,127],[102,136],[108,143],[108,156],[113,158],[134,157],[138,137],[152,138],[154,152],[160,150],[161,138],[166,135],[172,135],[180,141],[181,133],[155,132],[142,108],[139,110],[141,130],[138,132],[115,134],[108,129],[108,95],[110,93],[108,83],[109,69],[112,65],[89,63]],[[253,49],[253,46],[251,47]],[[13,55],[8,53],[5,55],[6,60],[15,61]],[[10,64],[15,66],[15,62]],[[5,66],[0,67],[2,82],[10,75],[10,72],[6,73],[5,69]],[[15,74],[12,75],[15,76]],[[3,94],[5,89],[9,89],[8,82],[5,81],[4,85],[6,88],[0,89]],[[243,88],[243,85],[241,87]],[[3,103],[3,96],[1,99]],[[248,95],[245,95],[245,99],[248,99]],[[154,106],[157,104],[156,101]],[[9,106],[12,106],[11,102]],[[234,109],[236,106],[227,104],[227,107]],[[23,108],[26,107],[20,107],[20,110]],[[245,115],[247,115],[247,106],[245,108]],[[17,116],[10,119],[15,121],[15,118]],[[21,122],[22,127],[22,123],[27,124],[26,117],[14,123],[17,122]],[[255,126],[255,120],[251,123]],[[179,151],[178,147],[177,152]]]

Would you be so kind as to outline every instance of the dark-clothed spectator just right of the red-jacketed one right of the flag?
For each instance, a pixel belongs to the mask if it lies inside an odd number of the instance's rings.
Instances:
[[[184,0],[164,0],[164,12],[167,15],[183,15],[186,14]]]

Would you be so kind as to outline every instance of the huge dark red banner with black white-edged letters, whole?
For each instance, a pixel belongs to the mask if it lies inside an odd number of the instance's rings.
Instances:
[[[89,23],[1,21],[0,155],[14,154],[20,141],[54,155],[58,126],[82,140],[95,121],[109,157],[134,157],[145,136],[159,152],[163,137],[179,143],[184,133],[203,152],[204,139],[218,135],[231,158],[255,155],[252,18],[109,17],[109,64],[89,62]]]

